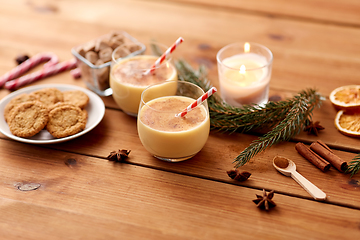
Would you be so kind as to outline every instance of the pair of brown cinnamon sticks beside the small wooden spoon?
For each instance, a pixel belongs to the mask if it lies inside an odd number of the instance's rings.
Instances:
[[[326,172],[332,165],[340,172],[345,172],[347,162],[336,156],[333,151],[321,140],[317,140],[310,145],[310,148],[299,142],[295,149],[321,171]]]

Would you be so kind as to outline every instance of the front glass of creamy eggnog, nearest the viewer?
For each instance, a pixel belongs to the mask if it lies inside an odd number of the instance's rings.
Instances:
[[[172,88],[174,92],[159,91],[163,88]],[[138,134],[146,150],[154,157],[169,162],[183,161],[198,153],[210,131],[207,101],[184,117],[177,114],[203,94],[200,87],[183,81],[168,81],[147,87],[141,95],[137,118]]]

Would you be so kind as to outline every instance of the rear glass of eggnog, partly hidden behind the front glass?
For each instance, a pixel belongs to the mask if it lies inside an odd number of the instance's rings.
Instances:
[[[155,61],[164,53],[167,46],[149,42],[143,55],[132,56],[122,46],[112,53],[110,87],[116,104],[127,114],[137,116],[141,93],[154,83],[177,80],[177,71],[166,59],[159,67],[153,67]],[[125,51],[125,52],[124,52]],[[154,71],[147,73],[149,69]]]

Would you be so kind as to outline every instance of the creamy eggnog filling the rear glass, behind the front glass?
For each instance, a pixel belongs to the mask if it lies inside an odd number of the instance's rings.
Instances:
[[[167,80],[177,80],[175,67],[164,61],[153,73],[145,74],[158,57],[138,55],[117,61],[111,68],[110,87],[117,105],[130,115],[137,115],[142,91],[149,85]],[[159,91],[172,89],[159,88]]]

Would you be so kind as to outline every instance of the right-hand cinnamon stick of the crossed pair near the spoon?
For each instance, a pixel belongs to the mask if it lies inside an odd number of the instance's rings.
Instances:
[[[345,172],[347,162],[336,156],[333,151],[321,140],[317,140],[310,145],[310,148],[321,157],[328,160],[340,172]]]

